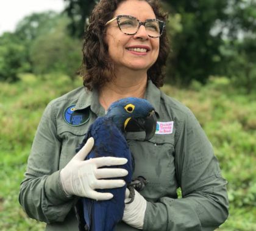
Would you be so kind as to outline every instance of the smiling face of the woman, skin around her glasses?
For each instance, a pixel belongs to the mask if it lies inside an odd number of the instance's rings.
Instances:
[[[142,22],[155,18],[155,13],[148,2],[139,0],[121,2],[113,18],[118,15],[134,16]],[[126,35],[119,30],[115,20],[107,25],[105,41],[116,68],[127,67],[133,70],[148,71],[157,60],[159,38],[149,37],[144,26],[140,26],[135,35]]]

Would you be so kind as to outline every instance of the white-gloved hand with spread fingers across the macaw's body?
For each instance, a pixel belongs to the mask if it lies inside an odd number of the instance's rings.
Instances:
[[[99,201],[113,198],[112,193],[99,193],[96,188],[118,188],[126,183],[121,179],[105,180],[101,178],[118,178],[128,174],[123,168],[99,168],[102,166],[126,164],[126,158],[99,157],[84,160],[93,148],[91,137],[84,147],[60,171],[60,181],[67,196],[76,195]]]

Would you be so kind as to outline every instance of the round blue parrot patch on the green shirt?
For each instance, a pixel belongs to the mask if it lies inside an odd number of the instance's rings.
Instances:
[[[71,105],[64,111],[64,120],[71,126],[80,126],[88,122],[90,119],[89,112],[85,113],[84,111],[75,111],[76,105]]]

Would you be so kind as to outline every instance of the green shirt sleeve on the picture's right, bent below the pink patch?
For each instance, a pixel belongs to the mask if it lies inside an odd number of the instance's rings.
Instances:
[[[143,230],[215,230],[227,219],[227,181],[212,144],[191,111],[179,125],[174,148],[182,198],[147,202]]]

